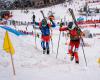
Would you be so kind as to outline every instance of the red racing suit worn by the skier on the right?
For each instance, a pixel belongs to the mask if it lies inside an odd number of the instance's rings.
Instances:
[[[76,27],[72,30],[69,30],[68,27],[61,27],[59,30],[60,31],[69,31],[70,43],[69,43],[69,47],[68,47],[68,53],[70,55],[74,54],[75,60],[79,61],[78,49],[79,49],[79,45],[80,45],[81,35],[83,35],[83,32],[81,31],[81,29],[76,28]],[[74,51],[73,51],[73,48],[74,48]]]

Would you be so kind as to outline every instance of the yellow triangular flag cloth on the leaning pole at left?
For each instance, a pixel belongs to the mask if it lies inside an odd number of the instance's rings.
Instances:
[[[4,37],[4,44],[3,49],[7,52],[13,55],[15,53],[15,50],[13,48],[13,45],[11,43],[10,37],[8,35],[8,32],[6,31],[5,37]]]

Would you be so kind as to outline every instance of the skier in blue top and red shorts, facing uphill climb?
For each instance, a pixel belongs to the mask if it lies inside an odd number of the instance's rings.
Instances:
[[[55,27],[55,23],[53,20],[50,18],[49,19],[51,23],[47,23],[46,19],[42,19],[41,22],[35,22],[36,25],[39,26],[39,29],[41,30],[41,47],[43,49],[43,54],[47,52],[47,54],[50,53],[50,48],[49,48],[49,42],[50,42],[50,27]]]

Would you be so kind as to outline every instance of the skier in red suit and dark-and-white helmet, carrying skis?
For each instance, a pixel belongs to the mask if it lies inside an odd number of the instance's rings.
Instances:
[[[60,24],[62,26],[62,24]],[[76,27],[74,22],[69,22],[68,27],[60,27],[60,31],[69,31],[70,34],[70,43],[68,47],[68,54],[70,55],[71,61],[75,57],[75,62],[79,64],[78,49],[80,45],[81,36],[84,36],[84,33],[80,28]],[[75,48],[74,48],[75,47]],[[74,48],[74,50],[73,50]]]

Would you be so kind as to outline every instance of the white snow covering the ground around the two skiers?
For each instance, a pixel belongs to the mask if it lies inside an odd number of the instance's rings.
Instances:
[[[50,9],[48,8],[47,10]],[[44,12],[46,13],[45,10]],[[55,14],[56,16],[64,16],[66,14],[64,7],[57,6],[54,10],[57,13]],[[36,11],[35,14],[37,15],[38,21],[38,18],[42,18],[40,10],[34,11]],[[31,13],[24,14],[18,10],[13,11],[13,19],[31,21]],[[17,26],[17,28],[25,29],[25,26]],[[28,30],[32,31],[32,26],[29,26]],[[90,30],[94,31],[94,29]],[[100,36],[84,38],[84,42],[88,44],[88,46],[84,47],[87,59],[86,67],[81,46],[79,48],[80,64],[77,65],[74,61],[71,62],[69,60],[69,56],[66,54],[68,45],[65,45],[66,42],[69,42],[69,39],[62,35],[58,58],[56,59],[59,37],[59,31],[57,29],[53,29],[53,52],[52,44],[50,43],[50,55],[42,54],[40,38],[37,38],[36,49],[33,36],[16,36],[9,32],[10,39],[15,48],[13,59],[16,76],[13,76],[10,55],[2,47],[4,35],[5,30],[0,28],[0,80],[100,80],[100,65],[96,62],[100,57]]]

